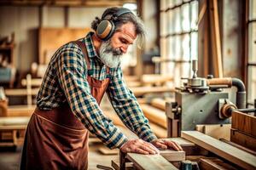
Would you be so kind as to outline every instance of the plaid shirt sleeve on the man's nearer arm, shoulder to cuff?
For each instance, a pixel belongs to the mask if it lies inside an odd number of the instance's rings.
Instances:
[[[55,64],[59,84],[66,95],[73,114],[90,133],[102,140],[109,148],[120,147],[127,141],[123,133],[105,116],[90,94],[87,82],[87,66],[82,51],[74,45],[73,50],[62,50]]]

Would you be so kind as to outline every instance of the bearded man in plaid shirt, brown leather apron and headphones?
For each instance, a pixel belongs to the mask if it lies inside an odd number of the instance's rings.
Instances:
[[[119,58],[137,37],[143,40],[141,20],[126,8],[108,8],[91,27],[94,31],[62,46],[50,60],[26,130],[21,169],[86,169],[88,131],[123,152],[156,154],[156,147],[168,146],[182,150],[155,137],[123,81]],[[140,139],[127,139],[104,115],[99,104],[105,91]]]

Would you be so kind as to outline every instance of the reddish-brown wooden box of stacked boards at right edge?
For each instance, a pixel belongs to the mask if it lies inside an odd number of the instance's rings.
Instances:
[[[256,117],[240,111],[232,112],[230,141],[256,151]]]

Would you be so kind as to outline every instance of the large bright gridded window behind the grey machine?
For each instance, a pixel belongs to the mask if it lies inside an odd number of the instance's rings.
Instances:
[[[173,75],[174,86],[191,75],[191,60],[198,59],[198,1],[160,1],[161,74]]]

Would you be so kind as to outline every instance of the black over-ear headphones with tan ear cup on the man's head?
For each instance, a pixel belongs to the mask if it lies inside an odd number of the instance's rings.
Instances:
[[[128,8],[119,8],[119,10],[112,14],[112,17],[109,20],[104,20],[107,14],[102,14],[102,21],[99,23],[96,29],[97,37],[101,38],[103,41],[107,41],[110,37],[113,36],[115,31],[114,22],[118,20],[119,16],[122,14],[131,13],[131,10]],[[132,13],[131,13],[132,14]]]

